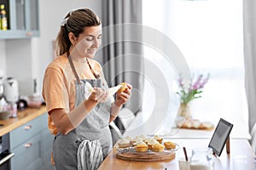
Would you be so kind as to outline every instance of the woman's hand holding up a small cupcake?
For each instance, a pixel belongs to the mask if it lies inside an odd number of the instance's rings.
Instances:
[[[129,83],[126,83],[126,84],[127,84],[128,88],[125,89],[124,92],[117,92],[116,93],[116,99],[115,99],[114,105],[116,105],[118,107],[124,105],[131,98],[132,86]]]

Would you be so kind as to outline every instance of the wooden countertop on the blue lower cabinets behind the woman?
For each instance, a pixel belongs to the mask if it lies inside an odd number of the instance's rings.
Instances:
[[[0,136],[3,134],[9,133],[17,127],[25,124],[26,122],[30,122],[38,116],[46,113],[46,106],[41,106],[40,108],[26,108],[24,111],[18,111],[17,117],[9,118],[6,121],[0,121]]]

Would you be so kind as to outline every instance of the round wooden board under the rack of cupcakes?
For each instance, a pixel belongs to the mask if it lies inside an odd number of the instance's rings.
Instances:
[[[117,158],[125,161],[172,161],[175,158],[175,150],[154,152],[137,152],[136,150],[117,150]]]

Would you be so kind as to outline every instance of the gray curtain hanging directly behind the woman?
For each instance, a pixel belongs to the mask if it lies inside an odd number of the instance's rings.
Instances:
[[[129,82],[133,90],[125,106],[135,114],[143,95],[142,0],[102,1],[102,65],[110,86]],[[137,37],[137,42],[130,37]]]

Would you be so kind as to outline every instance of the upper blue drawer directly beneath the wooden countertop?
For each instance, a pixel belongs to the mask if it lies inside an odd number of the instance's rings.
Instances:
[[[17,147],[19,144],[40,133],[43,127],[47,127],[47,124],[43,124],[43,120],[44,116],[39,116],[31,122],[27,122],[26,124],[10,132],[10,149],[15,149],[15,147]]]

